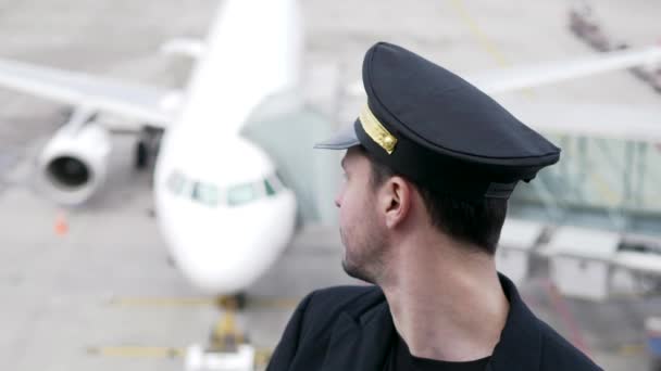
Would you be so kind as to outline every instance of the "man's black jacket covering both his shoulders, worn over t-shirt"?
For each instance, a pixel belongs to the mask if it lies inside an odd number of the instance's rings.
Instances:
[[[500,281],[510,312],[487,370],[601,370],[537,319],[509,279]],[[266,371],[382,371],[394,334],[377,286],[315,291],[294,312]]]

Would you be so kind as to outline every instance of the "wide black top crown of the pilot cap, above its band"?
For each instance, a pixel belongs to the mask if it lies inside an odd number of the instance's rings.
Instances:
[[[374,115],[434,152],[479,164],[546,166],[560,150],[490,97],[401,47],[379,42],[363,64]]]

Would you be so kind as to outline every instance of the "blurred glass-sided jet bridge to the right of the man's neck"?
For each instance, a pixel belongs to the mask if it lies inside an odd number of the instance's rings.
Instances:
[[[661,151],[654,132],[649,140],[637,130],[623,139],[558,136],[561,162],[519,186],[511,200],[499,270],[522,282],[532,258],[540,257],[566,296],[604,300],[661,292],[661,169],[654,166]]]

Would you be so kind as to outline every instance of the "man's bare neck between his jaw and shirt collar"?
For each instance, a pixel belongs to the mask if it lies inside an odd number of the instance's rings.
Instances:
[[[402,241],[382,286],[413,356],[467,361],[491,355],[509,312],[494,258],[445,236]]]

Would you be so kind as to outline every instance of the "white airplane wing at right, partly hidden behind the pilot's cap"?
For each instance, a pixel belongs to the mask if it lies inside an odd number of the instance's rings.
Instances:
[[[499,93],[558,82],[609,71],[624,69],[661,61],[661,47],[619,50],[565,62],[513,67],[463,76],[486,93]],[[362,81],[349,86],[351,95],[364,95]]]

